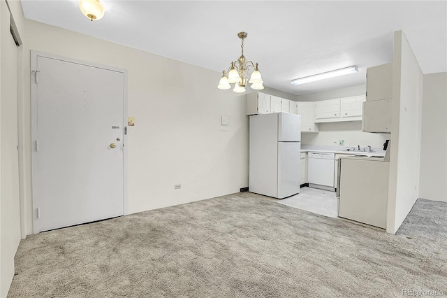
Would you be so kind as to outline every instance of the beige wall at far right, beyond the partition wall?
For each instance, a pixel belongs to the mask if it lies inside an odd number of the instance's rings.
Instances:
[[[424,75],[419,197],[447,201],[447,73]]]

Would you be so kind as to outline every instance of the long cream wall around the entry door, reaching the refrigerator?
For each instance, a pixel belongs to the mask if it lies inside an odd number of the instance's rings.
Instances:
[[[248,186],[248,117],[244,94],[218,90],[220,74],[39,22],[26,20],[24,134],[31,178],[29,51],[128,71],[129,212],[239,192]],[[220,116],[230,117],[221,127]],[[182,189],[175,190],[175,184]],[[25,185],[31,189],[31,183]],[[32,232],[31,193],[25,198]]]

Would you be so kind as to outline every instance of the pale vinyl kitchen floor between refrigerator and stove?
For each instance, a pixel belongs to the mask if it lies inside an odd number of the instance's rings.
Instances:
[[[337,197],[335,192],[302,187],[299,194],[286,199],[275,199],[277,203],[305,211],[337,218]]]

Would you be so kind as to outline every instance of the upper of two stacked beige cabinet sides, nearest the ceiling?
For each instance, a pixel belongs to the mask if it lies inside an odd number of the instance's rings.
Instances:
[[[393,63],[368,67],[366,79],[367,101],[393,98]]]

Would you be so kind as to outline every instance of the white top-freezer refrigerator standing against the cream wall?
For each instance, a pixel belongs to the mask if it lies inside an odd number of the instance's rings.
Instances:
[[[301,116],[250,116],[249,191],[284,199],[300,192]]]

